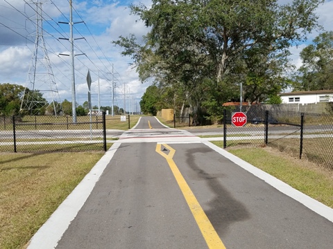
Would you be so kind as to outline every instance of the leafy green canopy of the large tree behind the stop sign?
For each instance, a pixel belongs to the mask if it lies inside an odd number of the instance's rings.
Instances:
[[[114,44],[132,57],[142,81],[153,78],[162,89],[182,92],[194,111],[205,103],[219,116],[214,103],[239,95],[240,82],[249,102],[287,87],[289,47],[318,27],[314,10],[322,2],[153,0],[150,8],[130,6],[150,28],[144,42],[129,35]]]

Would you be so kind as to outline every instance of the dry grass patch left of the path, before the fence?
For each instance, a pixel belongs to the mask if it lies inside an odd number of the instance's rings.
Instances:
[[[22,248],[103,154],[0,154],[0,248]]]

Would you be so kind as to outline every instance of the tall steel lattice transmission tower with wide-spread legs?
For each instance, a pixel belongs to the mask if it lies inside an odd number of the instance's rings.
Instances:
[[[35,19],[31,19],[36,26],[35,49],[21,103],[21,110],[31,115],[44,115],[46,109],[57,115],[61,110],[60,95],[43,36],[42,4],[45,2],[46,0],[31,1],[36,11]]]

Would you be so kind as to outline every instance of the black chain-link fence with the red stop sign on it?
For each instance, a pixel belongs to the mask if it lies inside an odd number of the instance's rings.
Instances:
[[[250,107],[244,111],[244,127],[232,124],[239,107],[225,109],[223,147],[270,146],[292,156],[305,158],[333,169],[333,116],[293,111],[265,111]]]

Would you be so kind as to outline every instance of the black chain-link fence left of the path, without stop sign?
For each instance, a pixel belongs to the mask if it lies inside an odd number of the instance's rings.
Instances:
[[[105,113],[101,117],[0,117],[1,152],[106,151]]]

